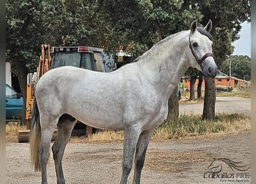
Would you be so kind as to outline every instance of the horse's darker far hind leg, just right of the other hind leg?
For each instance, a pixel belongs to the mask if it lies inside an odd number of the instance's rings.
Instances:
[[[74,128],[76,122],[77,120],[75,120],[75,118],[73,118],[72,116],[68,114],[63,114],[59,118],[59,122],[57,124],[57,137],[54,145],[52,145],[52,153],[54,155],[55,171],[58,184],[65,183],[62,170],[62,158],[68,140],[70,139],[72,129]]]

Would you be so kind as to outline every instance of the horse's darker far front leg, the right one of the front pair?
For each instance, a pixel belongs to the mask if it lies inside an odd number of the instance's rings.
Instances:
[[[140,183],[140,175],[142,174],[142,168],[144,166],[148,143],[150,143],[150,139],[153,133],[154,133],[154,129],[151,131],[142,132],[139,136],[139,140],[137,141],[135,160],[134,160],[135,170],[134,170],[134,176],[133,176],[133,184]]]

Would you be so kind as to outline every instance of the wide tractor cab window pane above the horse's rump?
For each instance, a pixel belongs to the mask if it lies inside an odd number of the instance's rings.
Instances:
[[[80,67],[80,59],[81,55],[78,52],[56,52],[52,56],[51,68],[58,68],[62,66]]]

